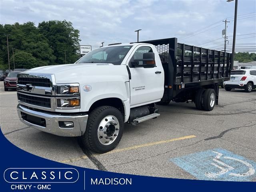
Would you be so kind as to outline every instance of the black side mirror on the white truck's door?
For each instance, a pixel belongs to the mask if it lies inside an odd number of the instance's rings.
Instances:
[[[140,64],[142,62],[142,65]],[[134,59],[131,62],[134,67],[143,66],[144,68],[153,68],[156,66],[155,54],[153,52],[148,52],[143,54],[143,59]]]

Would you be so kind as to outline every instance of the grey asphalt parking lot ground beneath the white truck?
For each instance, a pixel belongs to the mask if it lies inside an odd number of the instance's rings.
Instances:
[[[43,158],[111,172],[184,179],[207,179],[211,173],[204,168],[212,166],[220,171],[211,175],[213,180],[240,181],[243,176],[236,173],[250,174],[247,179],[256,181],[256,90],[220,89],[219,105],[211,112],[186,103],[158,106],[160,117],[138,126],[126,124],[120,144],[106,154],[85,154],[77,138],[54,136],[22,124],[16,112],[16,91],[4,92],[3,82],[0,100],[5,137]],[[229,166],[220,163],[231,156]],[[224,176],[224,167],[231,174]]]

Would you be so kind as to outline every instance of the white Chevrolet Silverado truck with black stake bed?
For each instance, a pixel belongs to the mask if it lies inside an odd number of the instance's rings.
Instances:
[[[177,38],[110,44],[74,64],[18,75],[18,115],[38,130],[81,136],[98,153],[114,149],[124,123],[156,118],[155,103],[195,102],[210,111],[229,80],[230,54],[177,43]]]

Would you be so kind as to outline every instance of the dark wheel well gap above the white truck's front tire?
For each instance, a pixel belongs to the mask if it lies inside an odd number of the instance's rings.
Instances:
[[[97,107],[104,106],[104,105],[117,108],[118,110],[120,110],[120,112],[124,116],[124,105],[122,103],[122,100],[118,98],[105,98],[105,99],[98,100],[92,104],[92,106],[89,109],[89,112],[91,112]]]

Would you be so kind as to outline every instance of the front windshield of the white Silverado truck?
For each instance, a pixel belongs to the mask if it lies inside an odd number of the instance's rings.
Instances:
[[[112,63],[120,65],[132,46],[102,47],[92,50],[76,63]]]

